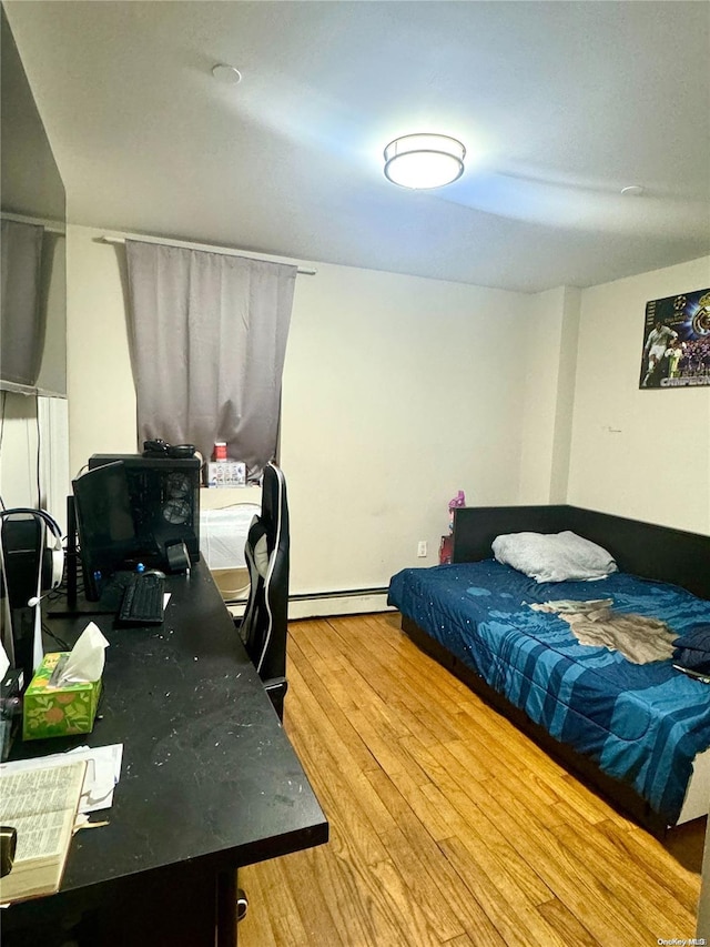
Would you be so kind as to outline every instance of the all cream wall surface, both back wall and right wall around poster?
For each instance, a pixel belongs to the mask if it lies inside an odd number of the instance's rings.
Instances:
[[[74,474],[136,449],[124,251],[101,235],[69,231]],[[537,296],[321,263],[300,276],[281,453],[292,593],[434,564],[459,488],[710,532],[710,393],[638,390],[647,300],[707,285],[708,264]]]

